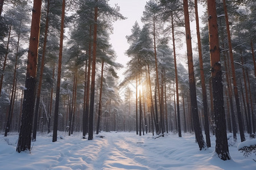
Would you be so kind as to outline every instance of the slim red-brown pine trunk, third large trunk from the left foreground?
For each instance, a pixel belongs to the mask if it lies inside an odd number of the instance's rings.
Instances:
[[[65,0],[62,1],[62,11],[61,11],[60,49],[59,49],[59,62],[58,62],[58,75],[57,75],[57,86],[56,86],[56,97],[55,97],[52,142],[57,141],[59,101],[60,101],[60,76],[61,76],[61,62],[62,62],[62,50],[63,50],[63,34],[64,34],[64,17],[65,17]]]

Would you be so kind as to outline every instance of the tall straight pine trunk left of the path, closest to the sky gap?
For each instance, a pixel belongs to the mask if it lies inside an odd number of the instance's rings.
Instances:
[[[95,0],[95,2],[98,2]],[[93,140],[93,111],[94,111],[94,93],[95,93],[95,74],[96,74],[96,49],[97,49],[97,18],[98,7],[94,8],[94,28],[93,28],[93,60],[92,60],[92,82],[90,86],[90,110],[88,140]]]

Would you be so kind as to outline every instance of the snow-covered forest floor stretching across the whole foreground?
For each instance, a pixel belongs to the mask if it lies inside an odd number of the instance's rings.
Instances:
[[[1,134],[0,169],[256,169],[255,152],[243,156],[237,149],[239,142],[229,141],[232,160],[223,161],[214,154],[215,137],[211,138],[212,147],[200,151],[192,134],[156,139],[134,132],[100,135],[104,138],[94,135],[94,140],[88,141],[81,133],[68,136],[59,132],[57,142],[52,143],[51,135],[38,134],[28,154],[15,151],[18,134]]]

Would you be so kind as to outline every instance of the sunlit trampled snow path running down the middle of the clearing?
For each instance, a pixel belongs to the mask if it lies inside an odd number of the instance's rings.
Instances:
[[[98,159],[95,161],[96,169],[98,167],[104,167],[103,169],[151,169],[147,167],[147,160],[143,159],[144,148],[139,146],[143,145],[144,139],[132,138],[128,133],[127,135],[110,133],[102,140],[106,141],[106,145],[101,148]]]

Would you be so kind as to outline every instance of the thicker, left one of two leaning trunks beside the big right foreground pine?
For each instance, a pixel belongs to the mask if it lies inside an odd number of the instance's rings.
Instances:
[[[188,0],[183,0],[184,16],[185,16],[185,32],[187,42],[187,56],[188,56],[188,75],[189,75],[189,90],[191,97],[191,107],[193,116],[193,125],[196,134],[196,141],[198,142],[200,150],[205,147],[204,137],[199,122],[197,97],[196,97],[196,82],[194,75],[193,56],[192,56],[192,43],[191,32],[189,25],[189,13],[188,13]]]

